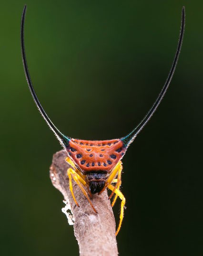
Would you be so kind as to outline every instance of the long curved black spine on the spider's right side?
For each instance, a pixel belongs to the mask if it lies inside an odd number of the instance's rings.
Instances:
[[[152,117],[153,113],[156,111],[157,107],[159,106],[159,104],[162,101],[163,96],[166,93],[166,90],[168,89],[168,86],[170,85],[170,82],[172,80],[174,71],[175,71],[175,67],[177,65],[178,62],[178,57],[181,51],[181,46],[183,43],[183,35],[184,35],[184,26],[185,26],[185,9],[183,6],[182,9],[182,21],[181,21],[181,32],[180,32],[180,37],[179,37],[179,41],[178,41],[178,47],[175,53],[175,58],[173,60],[173,65],[171,68],[171,71],[168,75],[168,78],[165,82],[165,85],[163,86],[159,96],[157,97],[156,101],[154,102],[152,108],[150,109],[150,111],[147,113],[147,115],[142,119],[142,121],[140,122],[140,124],[134,128],[132,130],[132,132],[130,132],[127,136],[121,138],[123,144],[125,145],[125,147],[128,147],[130,145],[130,143],[132,143],[132,141],[135,139],[135,137],[138,135],[138,133],[142,130],[142,128],[147,124],[147,122],[150,120],[150,118]]]

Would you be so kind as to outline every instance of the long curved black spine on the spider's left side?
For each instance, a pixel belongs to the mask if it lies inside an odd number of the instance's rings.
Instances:
[[[25,55],[25,45],[24,45],[24,21],[25,21],[25,13],[26,13],[26,8],[27,6],[24,6],[23,12],[22,12],[22,18],[21,18],[21,26],[20,26],[20,38],[21,38],[21,51],[22,51],[22,62],[23,62],[23,67],[24,67],[24,71],[25,71],[25,76],[26,76],[26,80],[27,83],[29,85],[30,88],[30,93],[34,99],[35,104],[37,105],[38,109],[40,110],[41,116],[45,119],[45,121],[47,122],[47,124],[49,125],[49,127],[51,128],[51,130],[54,132],[54,134],[56,135],[57,139],[60,141],[61,145],[65,148],[68,146],[69,141],[71,138],[63,135],[60,130],[58,130],[55,125],[51,122],[50,118],[47,116],[46,112],[44,111],[43,107],[40,104],[40,101],[34,91],[32,82],[31,82],[31,78],[30,78],[30,74],[28,71],[28,65],[27,65],[27,61],[26,61],[26,55]]]

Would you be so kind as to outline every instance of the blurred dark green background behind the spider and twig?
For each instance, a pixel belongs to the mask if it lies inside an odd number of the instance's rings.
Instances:
[[[76,256],[63,198],[49,178],[61,146],[23,72],[24,4],[3,1],[0,10],[0,255]],[[123,159],[127,209],[117,240],[121,256],[202,256],[203,2],[26,4],[25,44],[36,92],[54,124],[80,139],[119,138],[139,123],[171,68],[185,5],[185,37],[171,86]]]

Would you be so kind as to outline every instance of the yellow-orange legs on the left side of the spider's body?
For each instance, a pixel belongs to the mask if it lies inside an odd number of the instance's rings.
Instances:
[[[87,194],[86,190],[84,189],[84,187],[88,188],[87,186],[87,182],[84,179],[84,176],[81,174],[81,172],[76,168],[75,164],[72,162],[72,160],[70,158],[66,158],[66,161],[71,165],[71,167],[67,170],[67,175],[69,177],[69,188],[73,197],[74,202],[76,203],[76,205],[78,207],[79,204],[75,198],[75,195],[73,193],[73,188],[72,188],[72,178],[73,180],[78,184],[78,186],[80,187],[82,193],[84,194],[84,196],[87,198],[88,202],[91,204],[92,209],[94,210],[95,213],[97,213],[96,209],[94,208],[93,204],[91,203],[90,197]],[[84,187],[83,187],[83,186]],[[89,191],[89,190],[88,190]]]

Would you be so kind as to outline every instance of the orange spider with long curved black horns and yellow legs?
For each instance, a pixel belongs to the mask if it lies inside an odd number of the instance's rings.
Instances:
[[[122,174],[122,158],[128,149],[129,145],[140,133],[142,128],[148,123],[153,113],[156,111],[160,102],[162,101],[163,96],[166,93],[166,90],[172,80],[173,73],[178,61],[178,57],[181,51],[181,46],[183,42],[184,34],[184,25],[185,25],[185,11],[184,7],[182,9],[182,22],[181,22],[181,32],[178,41],[178,47],[175,53],[173,60],[173,65],[171,71],[168,75],[168,78],[162,87],[162,90],[154,102],[152,108],[142,119],[140,124],[135,127],[129,134],[120,138],[120,139],[110,139],[110,140],[83,140],[83,139],[73,139],[71,137],[65,136],[59,131],[58,128],[52,123],[51,119],[47,116],[44,111],[41,103],[34,91],[30,74],[28,71],[28,65],[25,55],[25,45],[24,45],[24,21],[26,13],[26,5],[24,6],[21,18],[21,51],[22,51],[22,61],[25,71],[25,76],[27,83],[30,88],[30,93],[34,99],[35,104],[37,105],[41,116],[45,119],[48,126],[51,128],[57,139],[60,141],[62,147],[67,150],[66,161],[70,164],[70,168],[67,171],[70,183],[70,191],[75,203],[78,205],[77,200],[73,193],[72,188],[72,179],[80,186],[82,193],[87,198],[91,204],[92,209],[97,213],[96,209],[91,203],[91,196],[95,193],[102,193],[106,188],[112,191],[109,198],[111,199],[114,195],[112,201],[112,206],[116,202],[117,197],[121,199],[121,213],[120,213],[120,222],[116,231],[116,235],[119,233],[124,205],[125,197],[120,191],[121,187],[121,174]],[[85,189],[86,188],[86,189]],[[79,205],[78,205],[79,206]]]

